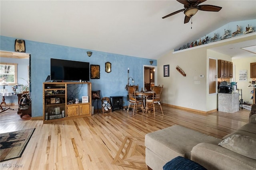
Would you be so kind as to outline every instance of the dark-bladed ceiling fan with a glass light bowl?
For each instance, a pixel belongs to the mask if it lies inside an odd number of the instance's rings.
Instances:
[[[177,0],[177,1],[184,4],[184,9],[178,10],[178,11],[173,12],[167,16],[164,16],[164,17],[162,17],[163,19],[184,11],[184,14],[186,15],[185,19],[184,19],[184,23],[188,23],[190,18],[192,16],[194,16],[196,14],[196,12],[198,12],[198,10],[218,12],[222,8],[222,7],[214,6],[214,5],[199,5],[206,0]]]

